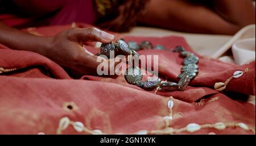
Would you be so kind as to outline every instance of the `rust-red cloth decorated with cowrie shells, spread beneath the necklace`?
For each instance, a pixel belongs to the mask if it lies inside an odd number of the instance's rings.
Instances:
[[[88,25],[78,24],[79,27]],[[69,26],[36,28],[41,35],[54,35]],[[117,34],[118,35],[118,34]],[[126,41],[149,40],[166,48],[181,45],[192,51],[183,37],[124,37]],[[215,82],[225,82],[235,70],[249,71],[233,79],[225,91],[255,95],[255,62],[245,65],[226,64],[200,56],[199,74],[184,91],[145,91],[130,85],[121,75],[117,78],[83,76],[73,80],[61,66],[37,53],[14,51],[0,46],[0,68],[23,68],[1,73],[0,134],[56,134],[59,120],[68,116],[84,123],[90,130],[100,129],[107,134],[131,134],[139,130],[161,130],[163,117],[168,115],[167,101],[174,99],[174,119],[170,127],[183,128],[189,123],[214,124],[242,122],[255,130],[255,106],[237,101],[225,92],[214,90]],[[86,47],[91,52],[98,49]],[[170,51],[138,51],[140,55],[159,55],[160,77],[177,81],[181,61],[178,53]],[[147,76],[143,76],[146,80]],[[58,79],[58,80],[56,80]],[[225,95],[226,94],[226,95]],[[237,94],[240,98],[246,95]],[[197,102],[204,99],[204,103]],[[73,111],[63,107],[72,102]],[[253,134],[242,128],[201,128],[192,134]],[[63,134],[79,134],[71,126]],[[181,134],[190,134],[182,132]]]

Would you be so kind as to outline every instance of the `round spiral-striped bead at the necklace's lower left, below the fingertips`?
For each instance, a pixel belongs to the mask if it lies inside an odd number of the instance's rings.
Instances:
[[[142,80],[141,69],[138,67],[135,68],[127,68],[125,72],[125,80],[129,82],[129,84],[135,84],[138,81]]]

